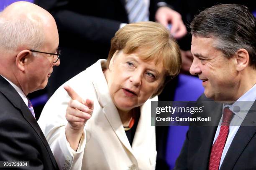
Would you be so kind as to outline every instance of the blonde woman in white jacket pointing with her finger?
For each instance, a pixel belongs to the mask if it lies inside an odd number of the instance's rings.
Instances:
[[[38,120],[59,168],[154,170],[151,101],[180,67],[179,47],[162,25],[132,23],[118,30],[108,60],[59,87]]]

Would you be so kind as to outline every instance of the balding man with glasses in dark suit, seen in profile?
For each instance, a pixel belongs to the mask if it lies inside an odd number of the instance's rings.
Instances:
[[[15,2],[0,13],[0,161],[28,161],[21,169],[58,169],[26,97],[43,89],[59,65],[58,45],[55,20],[43,8]]]

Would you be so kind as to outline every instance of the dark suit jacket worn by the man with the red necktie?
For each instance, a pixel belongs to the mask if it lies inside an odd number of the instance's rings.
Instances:
[[[209,100],[202,95],[198,103]],[[215,123],[220,121],[222,104],[209,105],[204,112],[217,114]],[[220,113],[220,114],[218,114]],[[254,121],[254,122],[253,122]],[[256,102],[249,110],[238,129],[220,170],[255,170],[256,169]],[[252,126],[243,126],[250,123]],[[208,170],[210,150],[217,126],[189,126],[183,148],[176,161],[174,170]]]

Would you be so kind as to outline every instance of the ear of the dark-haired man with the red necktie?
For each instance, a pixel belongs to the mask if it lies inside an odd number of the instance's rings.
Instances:
[[[249,53],[244,48],[237,50],[236,53],[236,70],[242,71],[249,65]]]

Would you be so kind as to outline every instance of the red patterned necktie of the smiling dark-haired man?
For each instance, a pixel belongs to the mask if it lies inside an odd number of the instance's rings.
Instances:
[[[233,112],[229,110],[229,107],[223,109],[223,119],[220,126],[220,133],[212,145],[209,170],[218,170],[220,166],[220,158],[228,138],[229,123],[233,117]]]

